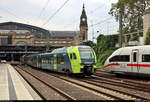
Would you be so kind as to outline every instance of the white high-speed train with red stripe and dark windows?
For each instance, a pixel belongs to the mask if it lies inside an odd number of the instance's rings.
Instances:
[[[150,46],[123,47],[105,62],[104,70],[112,73],[150,76]]]

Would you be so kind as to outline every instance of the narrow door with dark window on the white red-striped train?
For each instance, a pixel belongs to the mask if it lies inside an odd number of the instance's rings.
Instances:
[[[131,54],[131,72],[138,73],[139,72],[139,50],[132,50]]]

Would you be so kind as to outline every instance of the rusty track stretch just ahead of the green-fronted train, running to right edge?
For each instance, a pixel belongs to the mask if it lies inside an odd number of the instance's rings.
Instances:
[[[88,79],[88,80],[82,79],[81,81],[89,83],[89,84],[93,84],[98,87],[103,87],[105,89],[113,90],[115,92],[119,92],[124,95],[128,95],[133,98],[136,98],[136,99],[142,99],[142,100],[150,99],[149,98],[150,93],[146,93],[146,95],[144,96],[142,94],[142,92],[137,91],[137,88],[132,88],[132,86],[124,86],[124,85],[120,85],[118,83],[114,84],[109,81],[102,81],[102,80],[95,80],[95,79]],[[143,93],[145,93],[145,92],[143,92]]]

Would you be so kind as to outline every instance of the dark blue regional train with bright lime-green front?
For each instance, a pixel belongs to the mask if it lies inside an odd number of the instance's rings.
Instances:
[[[49,53],[22,56],[21,62],[32,67],[67,74],[90,76],[97,69],[95,52],[89,46],[63,47]]]

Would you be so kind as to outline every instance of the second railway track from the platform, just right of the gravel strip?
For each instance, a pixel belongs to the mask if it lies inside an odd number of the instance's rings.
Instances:
[[[35,69],[34,69],[35,70]],[[38,70],[37,70],[38,71]],[[47,72],[44,72],[44,73],[47,73]],[[68,78],[64,75],[57,75],[57,74],[53,74],[53,73],[47,73],[48,75],[52,75],[54,77],[57,77],[59,79],[62,79],[66,82],[70,82],[70,83],[73,83],[73,84],[76,84],[78,86],[81,86],[81,87],[84,87],[84,88],[87,88],[89,90],[92,90],[94,92],[97,92],[97,93],[100,93],[100,94],[103,94],[103,95],[106,95],[107,97],[111,97],[112,99],[116,99],[116,100],[124,100],[124,99],[129,99],[129,100],[135,100],[135,99],[146,99],[146,98],[143,98],[143,97],[140,97],[140,96],[137,96],[137,95],[132,95],[132,94],[129,94],[129,93],[125,93],[123,91],[118,91],[118,90],[115,90],[115,89],[112,89],[112,88],[108,88],[108,87],[104,87],[104,86],[100,86],[100,85],[97,85],[97,84],[94,84],[94,81],[91,81],[91,82],[87,82],[85,80],[80,80],[80,83],[78,81],[74,81],[72,80],[72,78]],[[82,83],[81,82],[85,82],[85,83]],[[87,85],[88,84],[88,85]],[[94,87],[89,87],[90,85],[94,85]],[[97,89],[95,89],[95,87],[97,87]],[[101,88],[101,91],[98,90],[99,88]],[[103,90],[103,91],[102,91]],[[111,93],[111,94],[110,94]]]

